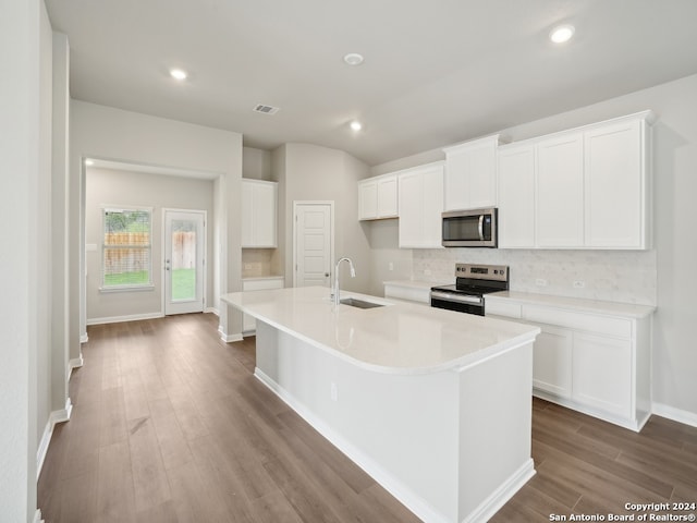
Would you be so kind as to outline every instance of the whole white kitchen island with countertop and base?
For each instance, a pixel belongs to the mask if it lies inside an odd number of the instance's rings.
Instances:
[[[537,327],[327,288],[222,296],[257,320],[255,375],[427,522],[491,516],[534,474]]]

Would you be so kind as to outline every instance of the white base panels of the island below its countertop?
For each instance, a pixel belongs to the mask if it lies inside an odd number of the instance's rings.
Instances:
[[[535,474],[533,339],[390,374],[257,317],[255,375],[424,521],[485,522]]]

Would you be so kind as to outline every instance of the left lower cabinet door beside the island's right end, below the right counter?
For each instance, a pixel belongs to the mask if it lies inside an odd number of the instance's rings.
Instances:
[[[571,330],[540,326],[533,345],[533,387],[560,398],[572,393]]]

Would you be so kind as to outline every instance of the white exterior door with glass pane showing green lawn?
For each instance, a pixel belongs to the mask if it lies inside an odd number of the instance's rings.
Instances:
[[[206,211],[164,209],[164,314],[204,311]]]

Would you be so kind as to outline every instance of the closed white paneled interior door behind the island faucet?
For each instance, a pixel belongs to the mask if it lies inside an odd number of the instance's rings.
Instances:
[[[333,203],[295,203],[294,208],[294,287],[329,287],[331,282]]]

